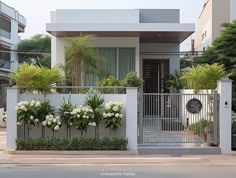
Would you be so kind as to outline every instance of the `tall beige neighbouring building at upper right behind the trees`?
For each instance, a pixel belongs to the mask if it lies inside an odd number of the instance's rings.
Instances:
[[[236,0],[208,0],[198,19],[195,50],[206,50],[219,36],[221,24],[233,20],[236,20]]]

